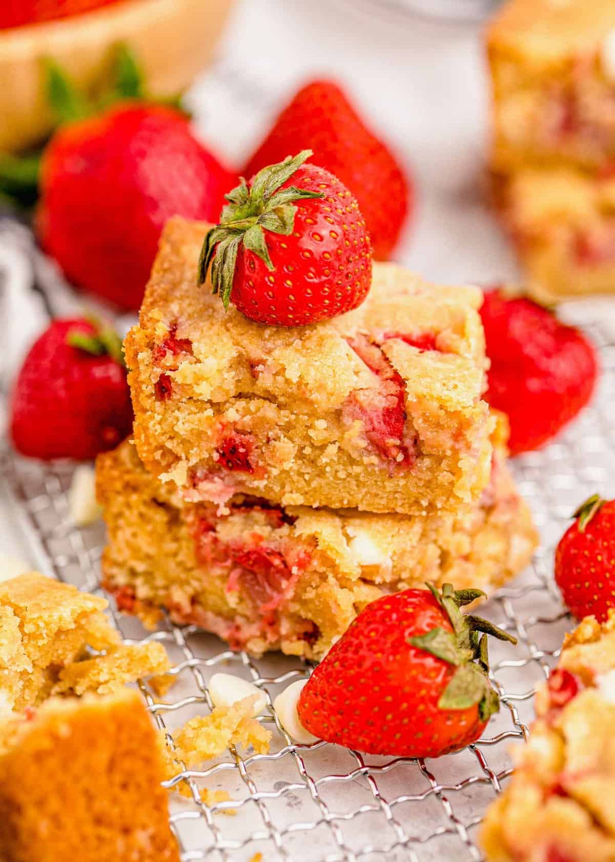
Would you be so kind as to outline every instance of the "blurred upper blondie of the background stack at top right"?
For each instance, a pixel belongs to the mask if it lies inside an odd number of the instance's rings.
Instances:
[[[487,31],[492,163],[607,166],[615,158],[612,0],[508,0]]]

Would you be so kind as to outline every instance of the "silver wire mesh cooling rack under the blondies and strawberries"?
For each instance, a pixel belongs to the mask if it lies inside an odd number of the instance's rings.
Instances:
[[[481,859],[477,831],[484,810],[511,773],[509,751],[522,744],[531,721],[534,686],[548,677],[562,636],[572,626],[552,582],[553,547],[575,506],[594,491],[615,490],[615,333],[613,306],[592,320],[590,305],[573,306],[600,349],[603,374],[593,406],[573,428],[541,453],[514,465],[519,489],[531,504],[543,546],[530,569],[492,597],[484,613],[519,638],[516,648],[495,643],[493,678],[502,709],[486,736],[441,759],[370,757],[322,742],[296,745],[272,708],[277,692],[309,667],[273,655],[252,659],[221,640],[165,622],[147,634],[140,623],[111,614],[127,640],[160,640],[173,662],[177,684],[158,700],[141,690],[160,728],[171,730],[211,709],[208,678],[230,671],[267,692],[273,731],[269,754],[230,749],[201,770],[183,771],[192,797],[173,794],[171,826],[183,862],[197,859],[249,862],[443,862]],[[594,312],[595,314],[595,312]],[[568,315],[570,316],[570,315]],[[15,503],[20,527],[42,571],[84,590],[101,592],[98,560],[103,528],[71,526],[66,490],[72,466],[27,463],[4,447],[0,474]],[[232,801],[208,806],[200,790],[227,790]],[[234,816],[224,816],[229,809]]]

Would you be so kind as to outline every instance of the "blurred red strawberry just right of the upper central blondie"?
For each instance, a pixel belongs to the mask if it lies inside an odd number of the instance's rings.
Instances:
[[[511,453],[544,446],[592,397],[593,345],[547,309],[500,290],[485,294],[481,318],[491,360],[485,398],[508,414]]]

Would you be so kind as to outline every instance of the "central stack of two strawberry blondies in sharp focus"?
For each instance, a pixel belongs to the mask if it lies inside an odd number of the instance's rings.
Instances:
[[[206,230],[165,228],[125,343],[134,442],[98,459],[121,609],[317,659],[382,593],[518,572],[536,533],[481,398],[481,291],[375,264],[357,309],[266,326],[197,286]]]

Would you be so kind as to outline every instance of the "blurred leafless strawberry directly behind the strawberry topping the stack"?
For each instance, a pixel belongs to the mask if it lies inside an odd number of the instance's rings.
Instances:
[[[386,144],[330,81],[313,81],[295,94],[245,166],[245,176],[303,147],[314,150],[314,163],[357,198],[374,257],[387,260],[412,209],[413,187]]]

